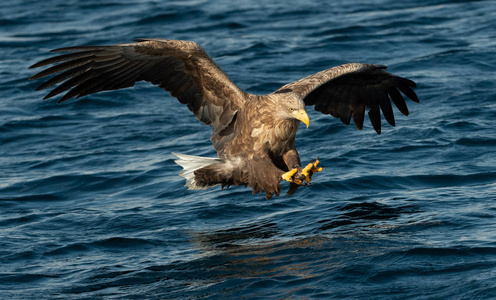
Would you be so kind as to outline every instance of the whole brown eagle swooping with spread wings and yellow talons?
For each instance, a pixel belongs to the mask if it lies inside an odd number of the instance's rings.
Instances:
[[[70,47],[54,52],[71,53],[32,66],[58,63],[31,78],[58,73],[38,88],[61,83],[45,99],[68,91],[62,102],[131,87],[144,80],[169,91],[200,121],[210,125],[219,158],[176,154],[176,162],[184,168],[180,175],[193,189],[245,185],[253,193],[265,191],[270,199],[273,194],[279,195],[283,174],[295,169],[291,175],[295,181],[288,180],[288,194],[292,194],[306,176],[295,149],[300,121],[307,126],[309,122],[305,105],[314,105],[317,111],[340,118],[345,124],[353,119],[358,129],[362,129],[368,109],[371,123],[380,133],[380,110],[387,122],[395,125],[390,100],[408,115],[400,91],[418,102],[411,89],[415,87],[413,81],[387,73],[380,65],[341,65],[260,96],[240,90],[194,42],[141,39],[131,44]]]

